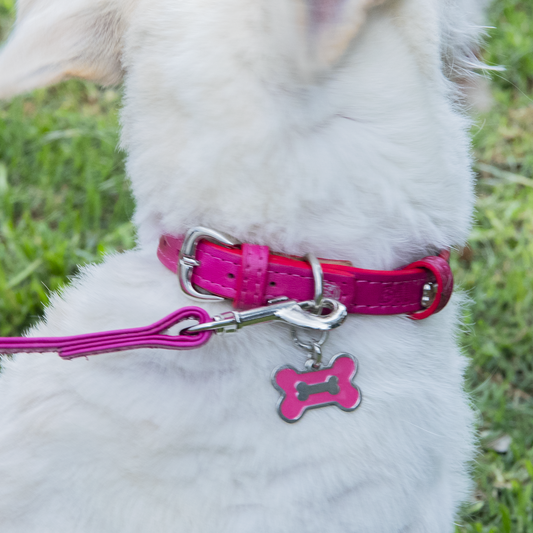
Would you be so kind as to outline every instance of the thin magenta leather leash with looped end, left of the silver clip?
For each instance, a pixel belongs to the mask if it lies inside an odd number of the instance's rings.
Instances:
[[[196,335],[165,335],[165,331],[184,320],[210,322],[211,318],[200,307],[184,307],[151,326],[72,337],[0,337],[0,353],[57,352],[63,359],[75,359],[100,353],[119,352],[134,348],[165,348],[191,350],[204,345],[212,332]]]

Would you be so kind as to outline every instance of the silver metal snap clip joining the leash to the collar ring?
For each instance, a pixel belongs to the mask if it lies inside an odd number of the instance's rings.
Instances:
[[[212,322],[186,328],[181,331],[181,334],[194,334],[201,331],[232,333],[245,326],[272,321],[281,321],[294,327],[323,332],[338,328],[348,315],[346,306],[329,298],[324,298],[322,304],[331,311],[327,315],[315,315],[311,312],[315,306],[313,300],[307,302],[287,300],[247,311],[230,311],[214,317]]]

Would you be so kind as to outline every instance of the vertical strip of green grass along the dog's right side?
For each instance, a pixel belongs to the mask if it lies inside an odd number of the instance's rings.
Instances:
[[[485,60],[493,108],[472,130],[478,159],[477,224],[455,258],[473,300],[463,345],[480,413],[477,491],[461,533],[533,533],[533,2],[497,0]],[[512,438],[507,453],[490,449]]]

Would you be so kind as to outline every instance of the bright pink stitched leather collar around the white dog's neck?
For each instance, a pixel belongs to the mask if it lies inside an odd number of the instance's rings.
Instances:
[[[165,267],[177,271],[183,237],[164,235],[157,255]],[[192,282],[204,291],[233,300],[236,308],[266,305],[269,300],[286,296],[310,300],[314,278],[309,263],[300,257],[270,252],[268,247],[242,244],[226,248],[208,240],[196,250],[199,266]],[[343,303],[349,313],[396,315],[407,313],[415,320],[438,313],[453,291],[449,252],[425,257],[400,270],[365,270],[347,262],[320,259],[324,272],[324,296]],[[428,304],[428,284],[433,287]]]

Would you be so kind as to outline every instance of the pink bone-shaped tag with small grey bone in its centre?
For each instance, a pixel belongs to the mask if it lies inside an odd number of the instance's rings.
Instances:
[[[290,365],[274,371],[272,384],[281,392],[279,416],[285,422],[297,422],[307,409],[336,405],[353,411],[361,403],[361,391],[352,383],[357,361],[347,353],[333,357],[321,370],[298,372]]]

